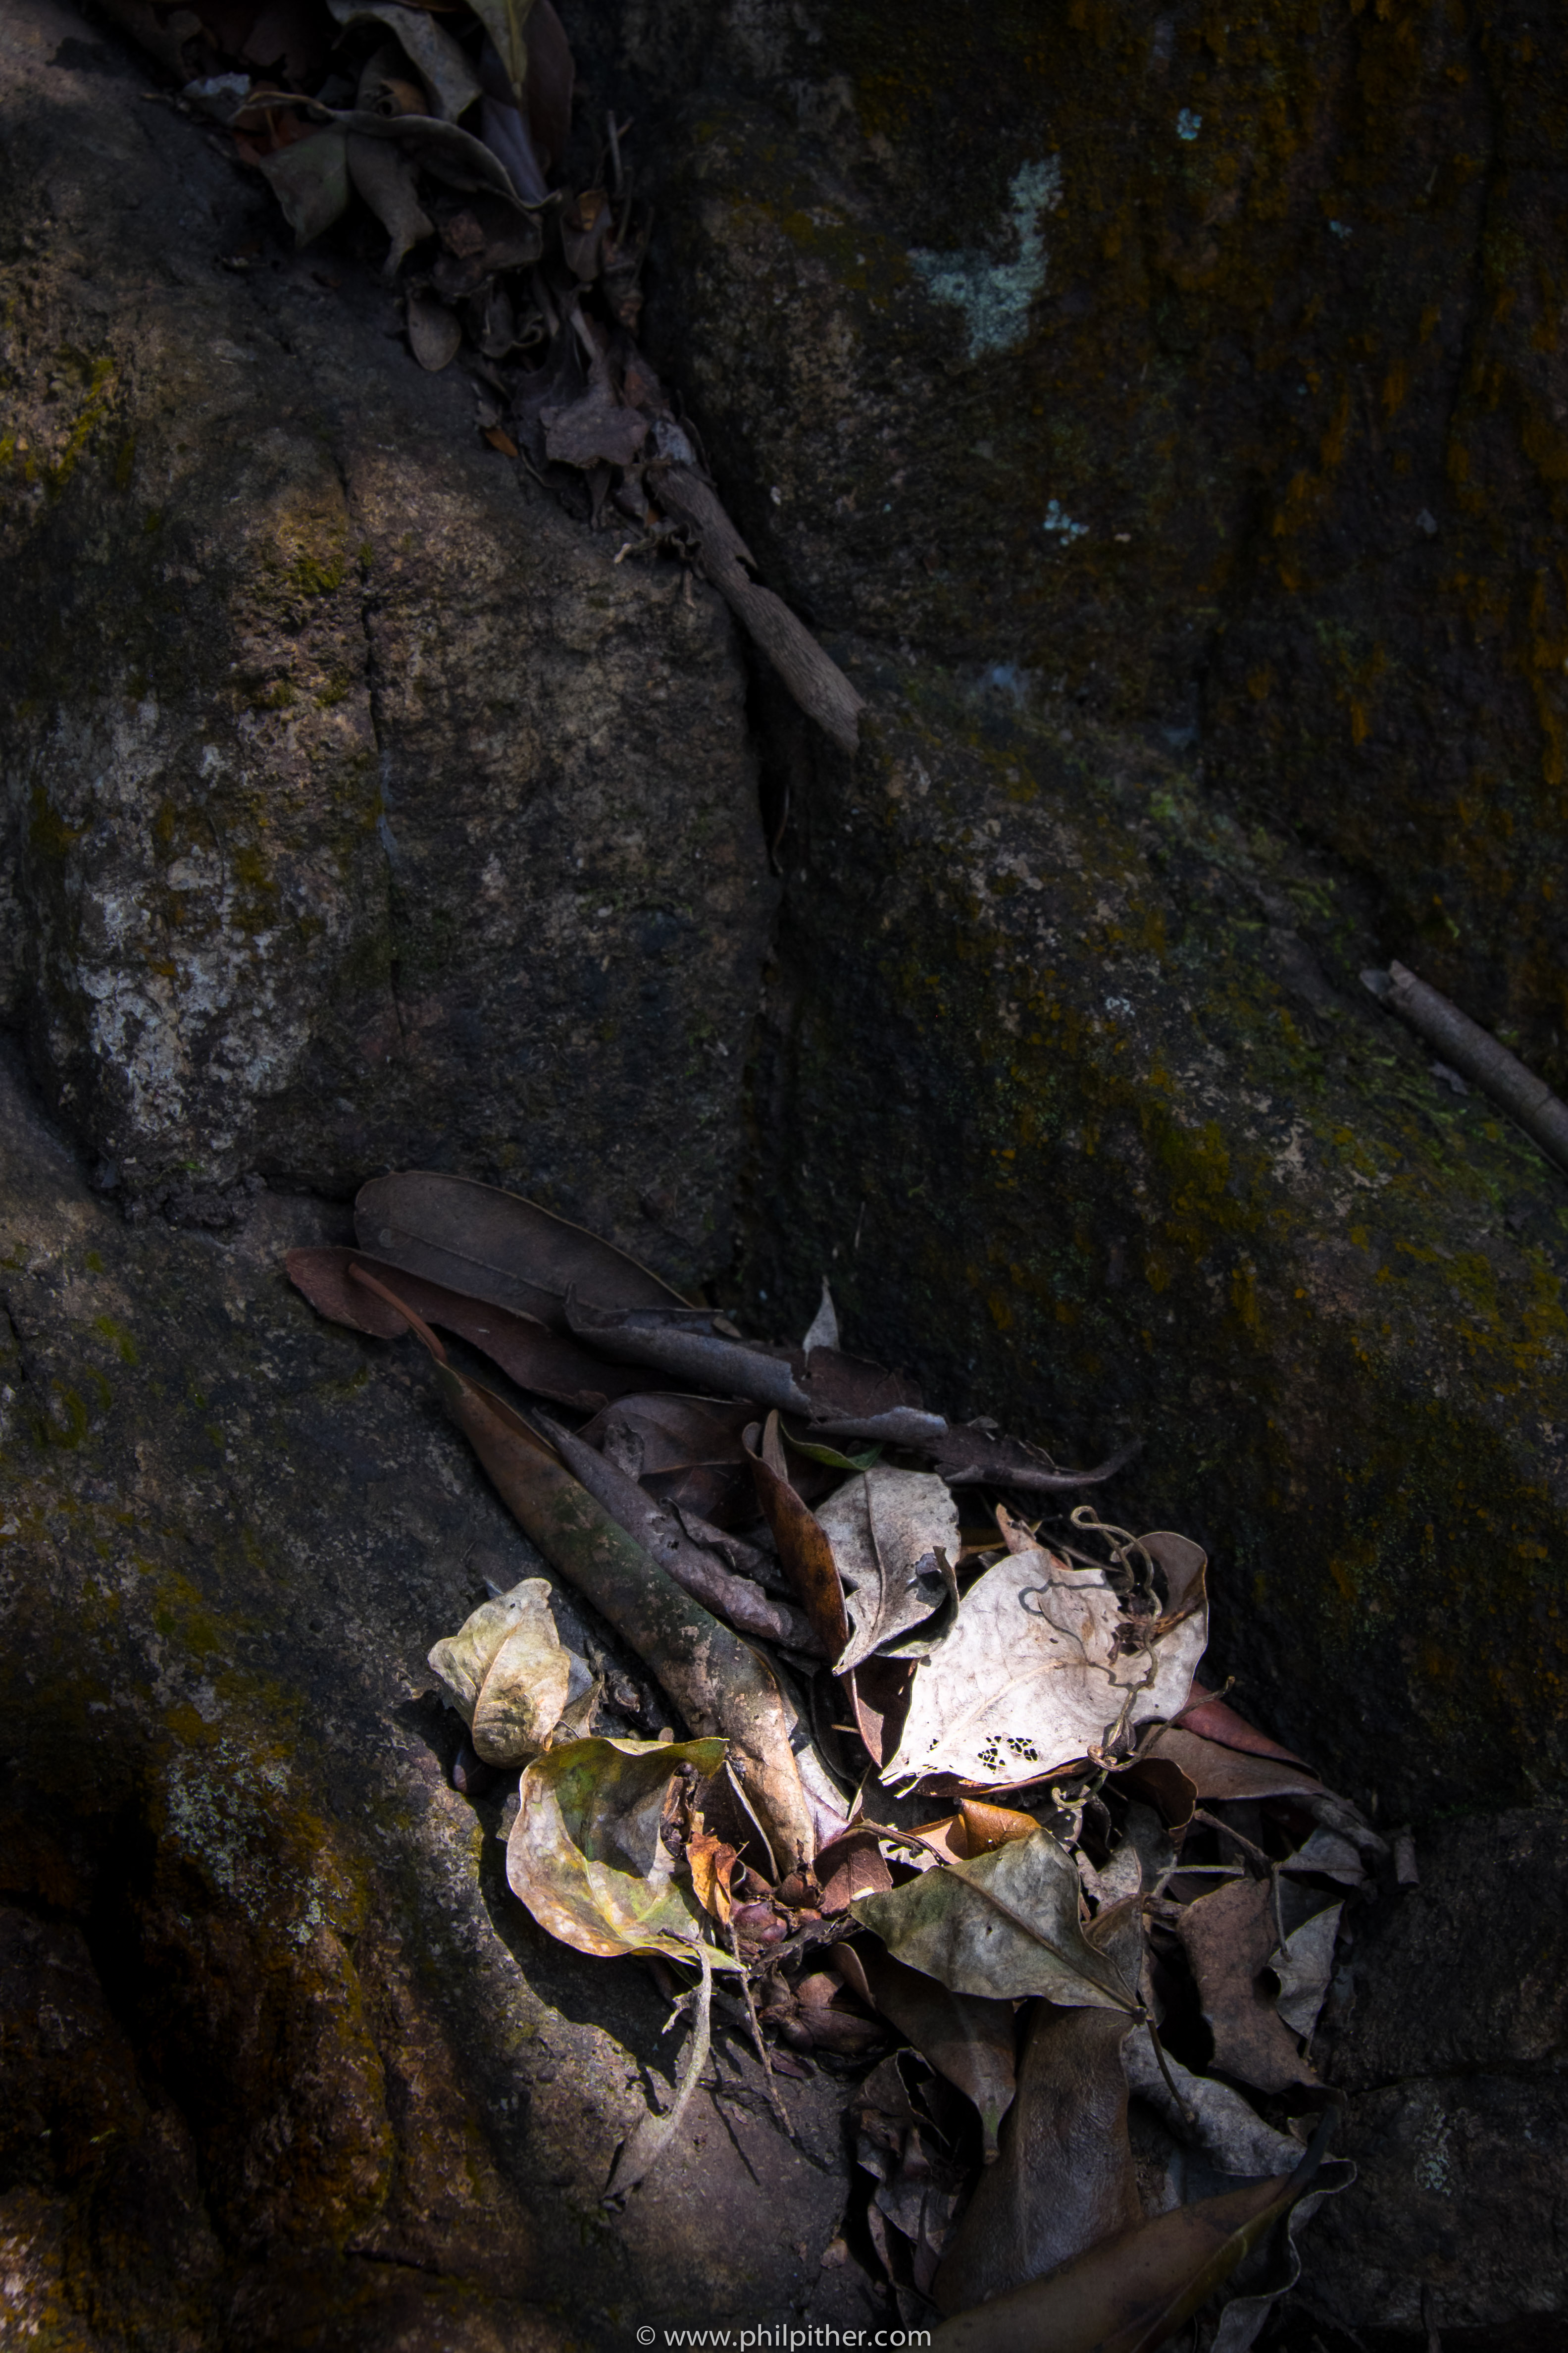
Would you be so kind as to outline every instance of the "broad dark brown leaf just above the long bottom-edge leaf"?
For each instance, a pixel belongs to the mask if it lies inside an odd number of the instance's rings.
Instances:
[[[1138,1984],[1135,1901],[1095,1920],[1091,1941],[1105,1939],[1121,1974]],[[947,2245],[936,2278],[938,2311],[961,2313],[1004,2297],[1143,2219],[1126,2134],[1128,2026],[1119,2012],[1034,2005],[1001,2155],[980,2177]]]

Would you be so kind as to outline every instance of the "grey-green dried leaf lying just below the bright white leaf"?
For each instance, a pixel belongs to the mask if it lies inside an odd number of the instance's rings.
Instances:
[[[1138,2012],[1121,1972],[1084,1939],[1079,1875],[1048,1831],[860,1897],[851,1913],[896,1960],[952,1993],[1004,2002],[1044,1993],[1065,2007]]]

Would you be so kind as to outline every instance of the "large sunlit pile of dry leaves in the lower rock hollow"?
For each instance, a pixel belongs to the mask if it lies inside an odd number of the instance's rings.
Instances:
[[[520,1769],[522,1904],[670,1991],[696,1972],[677,2099],[609,2195],[672,2139],[717,2007],[771,2080],[867,2066],[865,2221],[905,2320],[952,2315],[936,2344],[1135,2353],[1201,2308],[1206,2353],[1244,2353],[1352,2177],[1312,2035],[1382,1840],[1194,1680],[1199,1546],[1067,1508],[1117,1466],[929,1412],[839,1348],[827,1289],[802,1346],[764,1346],[418,1172],[367,1184],[355,1231],[289,1275],[418,1334],[498,1494],[668,1701],[661,1739],[616,1737],[545,1579],[430,1652],[470,1767]]]

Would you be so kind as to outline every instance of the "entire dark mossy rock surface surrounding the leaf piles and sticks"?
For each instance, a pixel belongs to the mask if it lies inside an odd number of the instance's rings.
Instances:
[[[284,254],[143,64],[0,21],[7,2322],[884,2318],[818,2275],[837,2094],[790,2151],[724,2038],[599,2207],[663,2005],[505,1899],[423,1697],[536,1562],[407,1351],[275,1273],[433,1162],[766,1332],[827,1271],[853,1346],[1063,1459],[1140,1435],[1103,1508],[1208,1544],[1248,1713],[1380,1821],[1519,1807],[1505,1875],[1422,1828],[1356,1948],[1366,2188],[1305,2252],[1324,2332],[1526,2344],[1568,1207],[1359,969],[1568,1080],[1561,66],[1502,7],[564,14],[853,765],[482,445],[353,240]]]

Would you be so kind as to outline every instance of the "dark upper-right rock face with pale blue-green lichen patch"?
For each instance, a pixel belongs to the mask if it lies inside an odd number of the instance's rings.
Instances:
[[[672,108],[670,344],[776,586],[1197,736],[1563,1087],[1568,68],[1530,12],[611,21]]]

